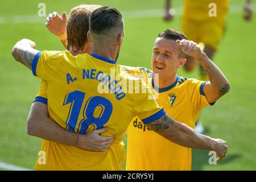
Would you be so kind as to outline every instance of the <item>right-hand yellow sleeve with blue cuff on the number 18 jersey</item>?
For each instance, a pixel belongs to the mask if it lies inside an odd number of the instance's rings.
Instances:
[[[162,117],[166,112],[163,107],[160,107],[156,102],[154,95],[151,92],[150,86],[140,80],[141,92],[137,94],[134,103],[134,116],[138,116],[144,124],[148,124]],[[142,92],[144,90],[144,92]],[[146,93],[145,93],[146,92]]]

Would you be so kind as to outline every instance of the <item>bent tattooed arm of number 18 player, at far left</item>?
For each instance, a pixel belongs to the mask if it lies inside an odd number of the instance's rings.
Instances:
[[[14,59],[31,69],[32,61],[39,51],[35,49],[36,45],[29,39],[22,39],[15,44],[11,52]]]

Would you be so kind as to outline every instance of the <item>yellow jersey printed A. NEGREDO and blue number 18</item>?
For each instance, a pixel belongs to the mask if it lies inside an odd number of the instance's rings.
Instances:
[[[144,123],[150,123],[165,114],[155,100],[148,100],[152,92],[141,78],[129,76],[105,57],[43,51],[35,56],[32,73],[45,81],[47,94],[40,90],[35,101],[47,103],[49,118],[72,132],[86,134],[108,127],[101,135],[115,136],[109,150],[104,152],[43,139],[41,150],[46,152],[46,164],[37,161],[36,170],[122,170],[125,159],[122,139],[131,119],[138,115]],[[126,81],[139,82],[146,92],[135,93],[136,88],[133,93],[125,92]]]

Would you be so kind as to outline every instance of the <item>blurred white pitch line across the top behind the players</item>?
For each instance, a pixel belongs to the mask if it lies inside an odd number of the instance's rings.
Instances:
[[[255,10],[256,3],[252,4]],[[175,15],[180,16],[182,13],[181,7],[174,9]],[[243,6],[241,5],[230,5],[229,14],[241,13]],[[218,10],[217,10],[218,12]],[[123,18],[125,19],[138,19],[138,18],[159,18],[163,17],[163,9],[151,9],[151,10],[132,10],[132,11],[121,11]],[[0,16],[0,24],[19,24],[19,23],[42,23],[46,22],[46,17],[39,17],[38,15],[14,15],[14,16]]]

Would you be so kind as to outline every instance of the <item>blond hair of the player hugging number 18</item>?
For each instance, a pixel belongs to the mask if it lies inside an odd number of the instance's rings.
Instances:
[[[71,10],[67,24],[68,49],[72,47],[74,52],[84,49],[90,14],[99,7],[101,5],[79,5]]]

